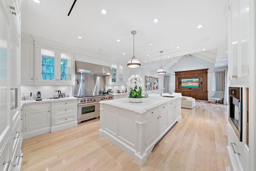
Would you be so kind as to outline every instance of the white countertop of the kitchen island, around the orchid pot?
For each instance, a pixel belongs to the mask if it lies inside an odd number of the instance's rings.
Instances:
[[[162,97],[162,96],[170,96],[170,97]],[[128,101],[128,98],[100,101],[100,103],[121,107],[123,109],[134,111],[136,113],[144,113],[150,109],[158,107],[159,105],[162,105],[164,103],[171,102],[174,99],[180,98],[179,96],[172,97],[168,93],[163,93],[162,96],[160,96],[160,94],[149,94],[148,98],[143,98],[142,103],[131,103]]]

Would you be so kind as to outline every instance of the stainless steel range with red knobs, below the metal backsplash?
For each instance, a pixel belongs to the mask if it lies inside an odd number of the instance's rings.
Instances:
[[[114,95],[102,94],[102,95],[74,95],[77,97],[78,103],[78,124],[81,121],[85,121],[92,118],[98,118],[100,116],[100,103],[101,100],[113,99]]]

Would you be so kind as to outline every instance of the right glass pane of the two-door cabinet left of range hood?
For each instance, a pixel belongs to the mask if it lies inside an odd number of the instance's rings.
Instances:
[[[60,80],[71,80],[72,55],[60,52]]]

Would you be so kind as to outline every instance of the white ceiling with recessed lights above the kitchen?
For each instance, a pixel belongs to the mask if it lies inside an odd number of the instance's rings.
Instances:
[[[189,58],[215,70],[228,66],[225,0],[77,0],[70,16],[74,0],[41,2],[23,0],[22,33],[128,62],[133,56],[131,31],[136,30],[134,55],[147,68],[160,68],[160,50],[169,72],[177,68],[176,61]],[[102,8],[107,14],[100,12]],[[159,22],[154,23],[154,18]],[[198,24],[204,26],[198,29]]]

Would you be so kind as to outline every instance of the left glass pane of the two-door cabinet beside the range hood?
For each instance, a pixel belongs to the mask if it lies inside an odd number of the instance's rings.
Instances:
[[[41,48],[41,79],[54,80],[55,51]]]

